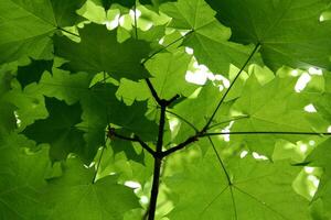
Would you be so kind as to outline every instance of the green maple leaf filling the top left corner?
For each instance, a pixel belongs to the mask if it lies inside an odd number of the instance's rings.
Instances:
[[[0,2],[0,64],[21,57],[50,59],[56,29],[74,25],[84,0],[8,0]]]

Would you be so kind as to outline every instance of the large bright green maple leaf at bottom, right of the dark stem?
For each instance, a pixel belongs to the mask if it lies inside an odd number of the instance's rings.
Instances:
[[[292,188],[299,168],[287,162],[247,156],[222,167],[210,152],[183,166],[182,173],[164,179],[177,195],[170,219],[309,219],[309,201]]]

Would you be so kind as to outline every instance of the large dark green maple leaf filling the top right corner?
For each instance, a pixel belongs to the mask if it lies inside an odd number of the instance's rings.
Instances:
[[[274,70],[288,65],[331,68],[330,22],[320,22],[329,1],[206,0],[217,19],[241,43],[260,43],[264,62]]]

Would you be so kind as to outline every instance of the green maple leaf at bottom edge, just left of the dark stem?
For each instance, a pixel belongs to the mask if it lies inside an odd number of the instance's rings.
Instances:
[[[122,219],[139,207],[132,190],[117,184],[116,176],[93,184],[94,167],[85,168],[77,158],[70,158],[63,168],[64,175],[51,179],[44,190],[43,199],[52,207],[47,219]]]

